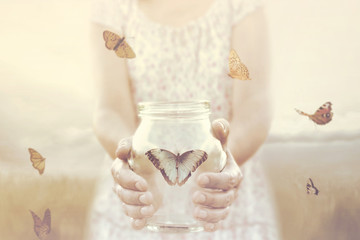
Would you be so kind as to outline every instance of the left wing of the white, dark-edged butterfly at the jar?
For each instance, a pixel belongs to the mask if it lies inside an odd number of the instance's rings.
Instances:
[[[169,185],[176,184],[176,159],[177,156],[165,149],[155,148],[147,151],[145,155],[153,163],[153,165],[160,170],[165,181]]]

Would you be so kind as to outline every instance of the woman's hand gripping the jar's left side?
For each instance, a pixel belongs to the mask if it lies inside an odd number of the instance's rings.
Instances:
[[[124,213],[131,218],[134,229],[141,229],[146,218],[155,212],[154,197],[144,178],[133,172],[127,163],[131,152],[131,138],[119,142],[111,173],[114,192],[123,204]]]

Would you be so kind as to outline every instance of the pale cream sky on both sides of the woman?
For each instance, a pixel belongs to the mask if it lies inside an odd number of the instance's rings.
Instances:
[[[272,0],[266,7],[275,102],[271,135],[360,137],[360,1]],[[89,16],[85,0],[2,2],[0,159],[24,156],[19,149],[28,147],[69,151],[79,142],[96,146],[90,149],[99,154],[91,132]],[[326,126],[294,110],[313,113],[326,101],[334,111]]]

